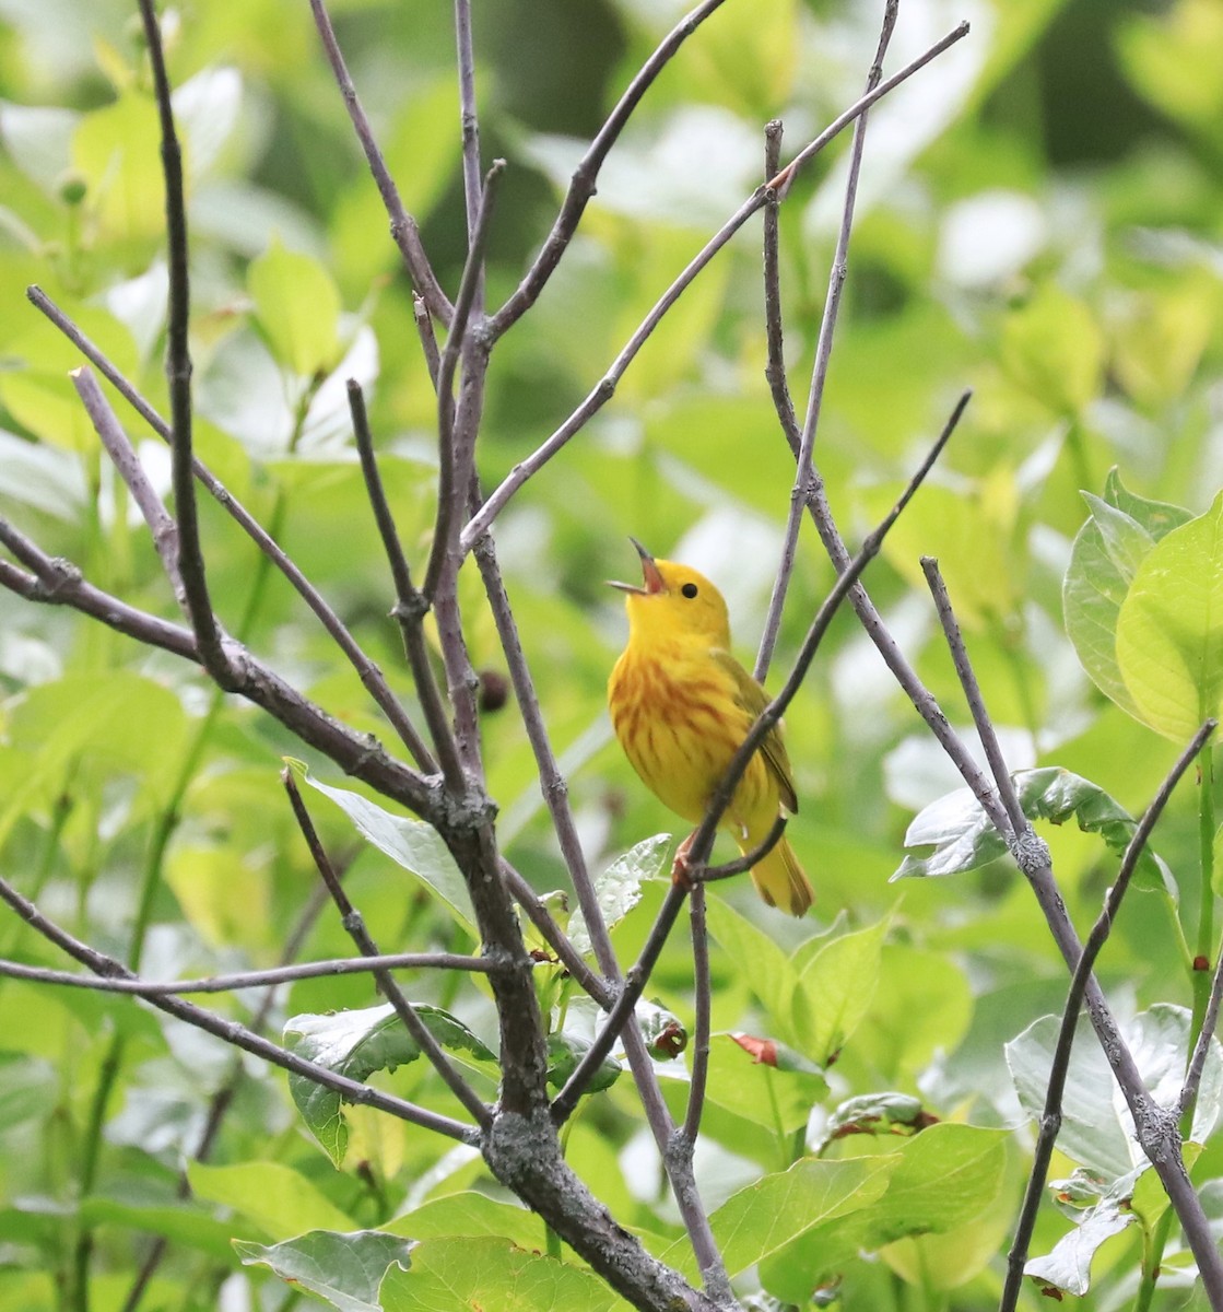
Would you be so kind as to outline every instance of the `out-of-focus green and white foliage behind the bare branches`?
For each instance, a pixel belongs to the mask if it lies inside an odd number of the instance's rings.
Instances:
[[[860,94],[879,10],[850,0],[727,0],[668,64],[559,272],[493,357],[479,454],[487,487],[567,417],[757,184],[764,122],[783,119],[789,157]],[[585,142],[680,13],[671,0],[475,7],[484,159],[509,164],[492,227],[491,306],[517,285]],[[1214,0],[905,0],[888,70],[962,17],[974,30],[871,114],[816,443],[854,541],[895,499],[961,391],[974,388],[943,462],[871,567],[870,590],[953,723],[968,727],[917,565],[920,555],[938,556],[1012,768],[1062,766],[1131,815],[1219,699],[1218,512],[1203,514],[1223,482],[1219,13]],[[466,223],[450,7],[337,0],[333,14],[404,202],[453,294]],[[353,377],[366,386],[383,478],[419,567],[436,496],[436,403],[381,201],[306,5],[189,0],[167,13],[165,31],[190,192],[199,454],[274,527],[416,714],[344,391]],[[782,210],[786,356],[799,408],[846,144],[816,160]],[[41,285],[165,413],[163,245],[156,119],[134,7],[0,0],[0,513],[98,585],[173,617],[147,534],[67,378],[79,357],[25,302],[26,286]],[[748,663],[768,604],[793,462],[764,378],[760,264],[749,224],[663,321],[614,400],[497,522],[509,594],[597,871],[674,827],[621,758],[604,712],[625,626],[602,580],[632,571],[626,535],[718,581]],[[123,419],[168,492],[164,450]],[[1152,525],[1155,502],[1171,508],[1171,521]],[[1192,516],[1201,518],[1176,526]],[[215,506],[203,505],[202,517],[226,625],[333,715],[386,737],[360,680],[291,589]],[[1118,542],[1132,546],[1138,534],[1142,551],[1118,556]],[[1079,592],[1067,592],[1064,615],[1068,568]],[[807,525],[777,670],[831,577]],[[472,565],[462,596],[472,656],[495,681],[504,659]],[[1190,639],[1169,626],[1169,607]],[[1167,672],[1186,651],[1188,663],[1201,659],[1201,677],[1180,680],[1169,710]],[[541,892],[564,890],[521,722],[512,701],[495,702],[482,728],[507,855]],[[766,1257],[761,1278],[783,1298],[810,1294],[803,1282],[823,1274],[803,1253],[825,1233],[844,1249],[835,1249],[844,1260],[836,1292],[846,1309],[993,1307],[1029,1147],[1020,1134],[1004,1152],[993,1134],[1022,1119],[1005,1044],[1059,1010],[1064,968],[1004,861],[954,880],[888,883],[913,813],[959,781],[852,617],[835,623],[787,732],[802,800],[789,834],[816,907],[795,925],[764,909],[743,880],[711,895],[718,1034],[698,1173],[710,1210],[723,1208],[715,1229],[726,1227],[719,1235],[743,1257],[736,1270]],[[196,670],[0,594],[0,870],[80,937],[119,956],[135,950],[148,974],[164,976],[273,964],[299,922],[303,958],[348,954],[336,917],[307,917],[316,878],[278,783],[285,754],[308,756],[261,715],[213,698]],[[341,782],[328,762],[308,764],[321,783]],[[362,844],[349,806],[311,803],[383,950],[471,946],[430,897],[428,876]],[[1180,904],[1159,880],[1135,890],[1100,963],[1121,1009],[1142,1013],[1143,1034],[1155,1027],[1152,1008],[1194,1001],[1186,963],[1202,924],[1199,832],[1199,799],[1186,786],[1156,837]],[[1115,853],[1075,827],[1042,833],[1085,930]],[[614,934],[623,960],[640,947],[661,888],[647,878],[640,901],[626,899]],[[0,954],[63,964],[12,917],[0,918]],[[651,996],[690,1025],[690,949],[677,934]],[[577,1034],[593,1023],[560,983],[547,987],[558,1027]],[[495,1038],[480,985],[430,975],[412,977],[409,994],[453,1013],[465,1033]],[[244,1019],[257,1008],[247,994],[213,1002]],[[281,992],[270,1018],[373,1002],[365,976],[303,981]],[[387,1307],[416,1307],[421,1288],[446,1284],[465,1260],[454,1236],[491,1245],[488,1261],[505,1273],[488,1273],[492,1288],[525,1279],[526,1256],[489,1236],[528,1246],[533,1233],[545,1246],[542,1227],[514,1228],[521,1214],[513,1224],[491,1219],[489,1208],[510,1210],[471,1193],[489,1189],[480,1164],[463,1151],[445,1156],[423,1130],[349,1109],[344,1169],[335,1170],[294,1117],[286,1081],[255,1068],[236,1085],[210,1165],[193,1168],[185,1202],[180,1162],[198,1143],[210,1097],[234,1075],[228,1051],[122,998],[79,991],[3,981],[0,1017],[4,1312],[122,1307],[156,1236],[171,1248],[147,1308],[215,1308],[222,1296],[244,1298],[248,1281],[260,1284],[261,1305],[287,1305],[293,1296],[277,1281],[241,1262],[291,1273],[325,1237],[274,1253],[262,1245],[302,1231],[402,1218],[395,1233],[432,1244],[407,1275],[391,1267]],[[1169,1030],[1160,1042],[1178,1051],[1184,1035]],[[776,1036],[814,1069],[753,1065],[730,1031]],[[659,1063],[674,1109],[686,1060]],[[381,1078],[454,1114],[424,1063]],[[884,1134],[854,1135],[837,1140],[829,1160],[804,1158],[783,1174],[808,1119],[815,1144],[840,1102],[887,1090],[953,1122],[938,1130],[955,1145],[941,1164],[950,1170],[961,1153],[966,1174],[940,1197],[962,1187],[961,1210],[940,1211],[920,1190],[890,1183],[909,1172],[938,1193],[936,1177],[913,1165],[938,1147],[926,1139],[933,1131],[903,1148]],[[1211,1182],[1219,1210],[1223,1155],[1210,1130],[1194,1178]],[[619,1220],[659,1254],[671,1252],[680,1229],[629,1080],[587,1099],[567,1153]],[[1059,1162],[1069,1173],[1076,1160]],[[839,1228],[829,1208],[844,1212],[845,1195],[820,1193],[833,1176],[869,1182],[861,1210]],[[758,1220],[760,1210],[755,1193],[732,1197],[743,1186],[789,1198],[789,1228],[744,1229],[736,1218]],[[412,1228],[449,1198],[470,1202],[436,1228]],[[934,1233],[917,1233],[922,1218]],[[1084,1307],[1115,1305],[1135,1278],[1144,1227],[1115,1220],[1114,1208],[1101,1223],[1101,1239],[1110,1237]],[[1052,1252],[1071,1225],[1045,1208],[1033,1252]],[[230,1236],[244,1241],[240,1256]],[[854,1257],[884,1244],[883,1261]],[[588,1277],[554,1265],[542,1274],[531,1266],[530,1278],[545,1288],[555,1281],[547,1296],[560,1305],[587,1299]],[[1174,1235],[1164,1270],[1155,1305],[1205,1305]],[[487,1296],[483,1286],[476,1295]],[[1043,1305],[1034,1288],[1025,1299]]]

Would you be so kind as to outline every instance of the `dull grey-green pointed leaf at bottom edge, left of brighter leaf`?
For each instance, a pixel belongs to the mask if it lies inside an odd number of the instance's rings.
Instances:
[[[283,1244],[234,1241],[243,1266],[269,1266],[289,1284],[340,1312],[381,1312],[378,1288],[391,1266],[408,1270],[411,1242],[381,1231],[310,1231]]]

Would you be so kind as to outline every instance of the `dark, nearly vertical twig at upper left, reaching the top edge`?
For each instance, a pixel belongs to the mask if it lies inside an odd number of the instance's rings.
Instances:
[[[165,382],[171,403],[171,482],[178,523],[178,567],[186,597],[186,611],[199,648],[203,668],[226,690],[232,673],[220,626],[213,611],[203,547],[199,541],[199,508],[192,461],[192,353],[188,341],[190,320],[190,276],[188,270],[186,198],[182,185],[182,151],[175,127],[161,29],[154,0],[139,0],[144,41],[154,75],[154,94],[161,125],[161,173],[165,178],[165,240],[169,272],[167,310]]]

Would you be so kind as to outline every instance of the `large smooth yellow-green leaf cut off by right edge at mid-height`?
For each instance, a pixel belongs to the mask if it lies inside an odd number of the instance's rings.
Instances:
[[[1223,706],[1223,495],[1143,560],[1117,619],[1139,719],[1185,743]]]

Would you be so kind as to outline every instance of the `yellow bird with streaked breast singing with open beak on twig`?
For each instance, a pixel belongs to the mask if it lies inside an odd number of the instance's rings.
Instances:
[[[769,705],[765,690],[731,655],[722,593],[688,565],[642,558],[642,586],[613,583],[629,596],[629,646],[608,681],[612,723],[646,786],[689,824],[699,824],[731,757]],[[781,726],[772,728],[722,816],[743,853],[761,844],[778,813],[798,811]],[[682,853],[682,849],[681,849]],[[782,837],[752,867],[770,907],[803,916],[811,883]]]

